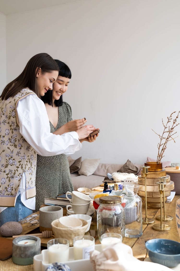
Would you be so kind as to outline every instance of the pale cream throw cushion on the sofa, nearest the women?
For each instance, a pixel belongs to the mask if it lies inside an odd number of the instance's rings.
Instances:
[[[79,175],[89,176],[94,173],[99,165],[100,159],[84,159],[81,163],[81,167],[78,170]]]

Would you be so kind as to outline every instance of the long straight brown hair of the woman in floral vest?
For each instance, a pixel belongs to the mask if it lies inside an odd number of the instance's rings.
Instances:
[[[7,100],[9,97],[16,95],[23,88],[31,89],[40,98],[36,80],[36,75],[40,68],[42,73],[51,72],[53,70],[59,71],[57,63],[49,54],[36,54],[28,61],[22,73],[4,88],[1,94],[2,100]]]

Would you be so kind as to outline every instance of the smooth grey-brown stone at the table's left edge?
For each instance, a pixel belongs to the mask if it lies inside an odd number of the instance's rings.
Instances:
[[[15,221],[6,222],[0,227],[0,234],[2,236],[12,236],[20,233],[22,233],[22,226]]]

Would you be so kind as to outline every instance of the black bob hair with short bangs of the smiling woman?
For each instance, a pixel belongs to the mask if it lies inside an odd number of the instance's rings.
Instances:
[[[69,67],[64,62],[58,59],[55,59],[55,61],[59,67],[59,76],[71,79],[71,71]],[[41,97],[41,99],[45,104],[49,104],[53,106],[52,96],[53,96],[53,91],[49,90],[45,93],[44,96]],[[54,103],[56,106],[61,106],[63,104],[63,95],[60,96],[59,100],[55,100]]]

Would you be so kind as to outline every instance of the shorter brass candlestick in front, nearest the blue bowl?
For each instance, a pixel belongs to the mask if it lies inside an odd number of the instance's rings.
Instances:
[[[155,231],[169,231],[171,230],[171,226],[167,225],[167,224],[162,224],[162,194],[164,191],[164,187],[166,185],[166,183],[164,182],[157,182],[156,183],[158,185],[158,189],[159,189],[159,193],[160,193],[160,204],[161,204],[161,216],[160,216],[160,224],[155,224],[152,226],[153,230]]]

